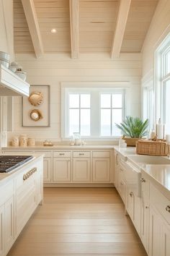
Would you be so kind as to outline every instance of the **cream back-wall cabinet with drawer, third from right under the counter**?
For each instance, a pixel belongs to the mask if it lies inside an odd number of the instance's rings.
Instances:
[[[71,151],[53,152],[53,182],[71,182]]]

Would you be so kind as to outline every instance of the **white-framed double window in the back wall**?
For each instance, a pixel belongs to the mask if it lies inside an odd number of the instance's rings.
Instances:
[[[117,137],[125,117],[124,88],[63,88],[62,137]]]

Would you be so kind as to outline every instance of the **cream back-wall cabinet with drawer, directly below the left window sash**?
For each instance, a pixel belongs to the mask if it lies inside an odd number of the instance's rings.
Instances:
[[[73,151],[73,182],[90,182],[91,174],[91,152]]]

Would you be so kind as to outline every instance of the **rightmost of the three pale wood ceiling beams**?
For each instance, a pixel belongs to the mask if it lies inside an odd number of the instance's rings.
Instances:
[[[117,24],[115,35],[112,42],[111,58],[116,59],[120,56],[122,47],[122,40],[125,33],[125,27],[128,20],[128,13],[130,10],[131,0],[120,0],[119,12],[117,15]]]

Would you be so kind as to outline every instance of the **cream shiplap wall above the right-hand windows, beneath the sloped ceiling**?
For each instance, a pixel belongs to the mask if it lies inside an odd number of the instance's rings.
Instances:
[[[143,81],[153,77],[154,51],[170,33],[170,1],[159,0],[146,40],[143,44]]]

